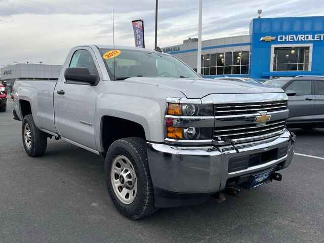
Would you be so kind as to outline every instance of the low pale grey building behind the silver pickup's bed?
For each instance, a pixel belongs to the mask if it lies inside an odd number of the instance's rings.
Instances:
[[[1,68],[0,83],[7,87],[10,94],[16,80],[57,80],[61,69],[62,65],[19,63]]]

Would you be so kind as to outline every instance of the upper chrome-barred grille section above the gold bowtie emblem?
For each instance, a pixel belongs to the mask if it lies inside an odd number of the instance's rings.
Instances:
[[[259,103],[215,104],[215,116],[253,114],[258,111],[270,112],[286,109],[287,101],[285,100]]]

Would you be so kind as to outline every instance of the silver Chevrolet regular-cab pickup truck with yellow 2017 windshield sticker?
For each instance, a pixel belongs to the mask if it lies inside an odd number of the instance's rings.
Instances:
[[[280,180],[294,154],[284,91],[203,79],[153,50],[78,46],[58,81],[14,91],[27,154],[53,137],[103,156],[108,193],[132,219]]]

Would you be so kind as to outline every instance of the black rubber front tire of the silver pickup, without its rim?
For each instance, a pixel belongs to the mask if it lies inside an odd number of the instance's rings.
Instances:
[[[110,171],[114,158],[124,155],[131,162],[137,177],[137,193],[131,204],[124,204],[111,185]],[[105,159],[105,179],[109,196],[117,210],[130,219],[140,219],[157,211],[154,205],[153,185],[148,168],[146,142],[142,138],[119,139],[109,147]]]

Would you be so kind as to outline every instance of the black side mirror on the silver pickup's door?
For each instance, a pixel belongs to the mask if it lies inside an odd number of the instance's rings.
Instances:
[[[65,80],[94,84],[98,75],[90,74],[89,69],[85,67],[68,67],[64,71],[64,78]]]

